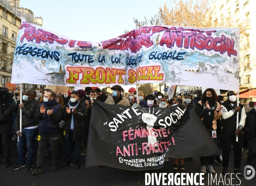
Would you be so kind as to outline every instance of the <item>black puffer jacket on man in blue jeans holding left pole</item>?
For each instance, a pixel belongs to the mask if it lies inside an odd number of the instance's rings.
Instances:
[[[22,128],[28,128],[38,125],[38,119],[34,118],[35,110],[38,108],[38,102],[25,102],[22,110]],[[15,119],[15,131],[20,130],[20,109],[17,111]]]

